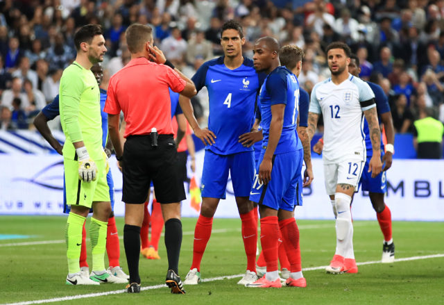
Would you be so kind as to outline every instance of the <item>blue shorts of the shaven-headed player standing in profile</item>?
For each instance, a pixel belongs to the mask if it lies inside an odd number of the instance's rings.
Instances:
[[[263,149],[256,172],[259,172],[264,153]],[[296,205],[302,205],[303,154],[303,149],[299,149],[273,156],[271,180],[263,186],[259,184],[258,174],[255,174],[250,200],[274,210],[294,211]]]

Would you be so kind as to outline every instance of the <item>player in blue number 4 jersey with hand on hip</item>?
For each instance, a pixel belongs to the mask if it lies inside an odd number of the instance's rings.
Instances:
[[[257,222],[253,204],[248,199],[255,160],[253,147],[241,145],[239,135],[251,131],[253,127],[260,80],[253,60],[242,56],[244,43],[241,25],[232,20],[225,22],[221,28],[224,56],[204,63],[192,78],[197,91],[204,86],[208,90],[210,115],[207,129],[198,126],[189,99],[182,96],[179,99],[194,134],[207,145],[201,181],[202,206],[194,231],[193,263],[184,281],[189,285],[200,282],[200,262],[210,239],[214,213],[220,199],[225,199],[229,172],[242,221],[241,231],[247,256],[247,271],[239,284],[257,279]]]

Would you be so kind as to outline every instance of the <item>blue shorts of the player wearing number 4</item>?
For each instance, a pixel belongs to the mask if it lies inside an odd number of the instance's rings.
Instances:
[[[214,154],[210,149],[205,150],[200,186],[202,197],[225,199],[228,171],[233,183],[234,196],[248,197],[255,175],[254,151],[223,156]]]

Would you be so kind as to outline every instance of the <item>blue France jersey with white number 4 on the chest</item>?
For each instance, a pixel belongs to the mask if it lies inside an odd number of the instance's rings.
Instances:
[[[255,121],[255,103],[259,76],[253,60],[244,59],[237,69],[228,69],[223,56],[204,63],[192,80],[196,90],[207,87],[210,98],[208,129],[216,135],[215,144],[207,145],[215,154],[228,155],[252,151],[239,143],[239,135],[247,133]]]

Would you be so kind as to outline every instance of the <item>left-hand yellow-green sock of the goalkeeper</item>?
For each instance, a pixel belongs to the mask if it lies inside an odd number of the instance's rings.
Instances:
[[[85,217],[69,213],[65,228],[65,241],[67,244],[68,272],[70,274],[80,272],[80,248],[82,247],[82,229]]]

